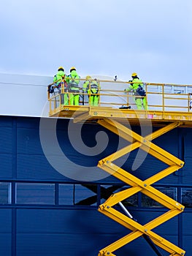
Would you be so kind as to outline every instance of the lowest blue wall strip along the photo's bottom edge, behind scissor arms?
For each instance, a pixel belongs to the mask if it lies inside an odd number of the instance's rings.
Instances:
[[[118,237],[120,238],[120,237]],[[117,240],[115,235],[74,236],[73,234],[20,234],[18,235],[17,256],[96,256],[101,248]],[[174,238],[172,239],[174,241]],[[156,256],[143,238],[115,251],[117,256]]]

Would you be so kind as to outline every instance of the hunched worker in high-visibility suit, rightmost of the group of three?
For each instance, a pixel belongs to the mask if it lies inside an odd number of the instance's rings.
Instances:
[[[91,106],[99,105],[99,89],[100,86],[98,80],[96,78],[93,80],[90,75],[87,75],[85,82],[82,85],[82,91],[89,94],[88,96],[90,97],[89,102]]]

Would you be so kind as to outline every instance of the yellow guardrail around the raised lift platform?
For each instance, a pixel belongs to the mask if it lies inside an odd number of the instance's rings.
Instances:
[[[61,105],[61,96],[66,94],[68,99],[70,94],[80,94],[79,105],[91,105],[91,95],[99,97],[100,107],[112,108],[131,108],[137,109],[135,104],[135,96],[133,92],[125,92],[131,82],[113,81],[113,80],[98,80],[99,91],[96,94],[83,91],[83,83],[85,79],[80,79],[80,92],[69,92],[66,88],[66,83],[61,83],[61,89],[58,90],[55,83],[48,86],[53,87],[54,92],[51,94],[47,91],[47,98],[50,102],[50,110],[54,110]],[[192,107],[192,85],[175,85],[165,83],[143,83],[146,91],[147,110],[175,111],[175,112],[191,112]],[[144,98],[137,96],[137,98]],[[64,103],[64,102],[62,102]],[[70,99],[68,100],[70,104]]]

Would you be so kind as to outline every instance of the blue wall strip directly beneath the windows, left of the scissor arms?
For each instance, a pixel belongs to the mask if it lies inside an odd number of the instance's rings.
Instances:
[[[104,226],[103,226],[104,223]],[[115,233],[126,228],[100,214],[96,208],[18,209],[18,233]]]

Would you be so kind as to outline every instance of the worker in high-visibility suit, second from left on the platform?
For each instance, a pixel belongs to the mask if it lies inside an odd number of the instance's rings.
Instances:
[[[66,78],[69,91],[69,105],[79,105],[80,102],[80,76],[77,74],[76,68],[71,67],[70,74]]]

